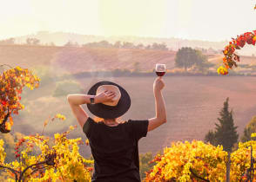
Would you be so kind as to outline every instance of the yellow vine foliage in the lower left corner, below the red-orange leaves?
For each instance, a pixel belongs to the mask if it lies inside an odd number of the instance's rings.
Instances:
[[[61,114],[54,118],[64,120]],[[47,123],[46,120],[44,126]],[[6,153],[3,140],[0,140],[0,169],[7,170],[9,181],[91,181],[93,161],[84,159],[78,152],[78,145],[84,142],[81,138],[67,139],[67,134],[75,127],[71,126],[64,133],[55,133],[54,138],[38,133],[25,136],[18,140],[16,159],[10,163],[4,163]]]

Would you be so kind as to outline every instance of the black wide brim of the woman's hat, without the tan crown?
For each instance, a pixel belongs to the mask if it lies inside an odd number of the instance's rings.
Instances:
[[[131,107],[131,99],[129,94],[126,92],[126,90],[121,86],[119,86],[117,83],[114,83],[111,81],[99,81],[89,89],[88,94],[96,95],[97,88],[101,85],[117,86],[120,90],[121,97],[118,101],[118,105],[114,107],[107,106],[102,103],[87,104],[87,107],[91,112],[91,114],[94,114],[99,118],[105,118],[105,119],[118,118],[121,115],[125,114],[128,111],[128,109]]]

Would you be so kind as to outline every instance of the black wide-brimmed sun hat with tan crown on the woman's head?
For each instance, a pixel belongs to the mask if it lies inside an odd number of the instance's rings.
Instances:
[[[89,89],[88,94],[97,95],[98,93],[102,92],[104,88],[110,88],[113,90],[117,94],[117,99],[114,103],[105,102],[98,104],[87,104],[91,114],[94,114],[99,118],[106,119],[118,118],[125,114],[131,107],[131,99],[126,90],[117,83],[111,81],[99,81]]]

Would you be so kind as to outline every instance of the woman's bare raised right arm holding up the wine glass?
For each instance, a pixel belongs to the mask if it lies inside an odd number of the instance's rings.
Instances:
[[[155,109],[156,116],[149,119],[148,132],[164,124],[166,120],[166,108],[165,101],[162,94],[162,89],[165,87],[165,83],[162,77],[156,78],[153,85],[153,92],[155,96]]]

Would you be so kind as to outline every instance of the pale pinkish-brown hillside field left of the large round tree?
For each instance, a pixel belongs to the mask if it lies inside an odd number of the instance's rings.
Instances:
[[[68,48],[44,46],[0,46],[0,60],[24,68],[46,66],[62,73],[78,73],[116,68],[133,69],[135,62],[142,70],[153,69],[162,62],[174,66],[174,51],[145,49]]]

